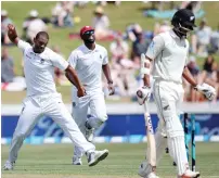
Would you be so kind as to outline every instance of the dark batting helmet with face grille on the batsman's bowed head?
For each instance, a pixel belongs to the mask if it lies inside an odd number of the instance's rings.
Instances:
[[[193,30],[193,27],[196,27],[195,15],[188,9],[181,9],[172,16],[171,24],[181,36],[186,37],[186,33]]]

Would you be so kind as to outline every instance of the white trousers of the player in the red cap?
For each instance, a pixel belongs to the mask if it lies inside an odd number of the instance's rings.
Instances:
[[[85,97],[78,98],[77,91],[73,91],[73,118],[80,128],[80,131],[86,134],[86,122],[96,129],[99,128],[106,119],[106,106],[104,100],[104,93],[102,90],[86,91]],[[88,110],[90,109],[90,115],[88,116]],[[83,154],[82,150],[75,145],[74,155],[81,157]]]

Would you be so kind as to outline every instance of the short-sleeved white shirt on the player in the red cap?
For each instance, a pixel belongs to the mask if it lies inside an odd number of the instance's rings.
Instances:
[[[68,63],[77,72],[87,91],[102,89],[102,66],[108,63],[107,51],[104,47],[95,43],[95,49],[89,50],[81,44],[70,53]],[[73,86],[73,90],[75,89]]]

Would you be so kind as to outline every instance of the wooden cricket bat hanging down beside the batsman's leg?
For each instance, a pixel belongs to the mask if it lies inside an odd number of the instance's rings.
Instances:
[[[149,104],[144,102],[144,120],[146,127],[147,150],[146,157],[152,167],[156,166],[156,143],[154,138],[154,130],[152,119],[149,111]]]

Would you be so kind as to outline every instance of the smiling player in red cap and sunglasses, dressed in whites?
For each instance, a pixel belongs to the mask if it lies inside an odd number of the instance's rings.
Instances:
[[[68,63],[75,68],[78,78],[86,88],[86,96],[78,98],[77,89],[73,86],[73,117],[87,140],[92,141],[93,131],[107,119],[104,93],[102,91],[102,71],[107,79],[110,94],[114,93],[114,86],[108,66],[107,51],[104,47],[95,43],[94,29],[91,26],[82,27],[80,37],[83,44],[70,53]],[[87,117],[88,109],[90,109],[91,115],[89,118]],[[82,153],[81,148],[75,145],[74,165],[82,164]]]

